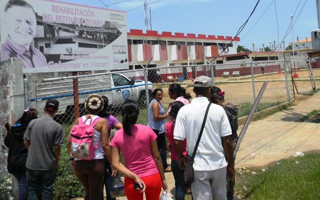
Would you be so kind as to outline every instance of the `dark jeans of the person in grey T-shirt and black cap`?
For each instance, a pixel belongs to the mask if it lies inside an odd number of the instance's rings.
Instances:
[[[55,169],[31,170],[27,169],[27,185],[29,200],[53,199],[53,184]]]

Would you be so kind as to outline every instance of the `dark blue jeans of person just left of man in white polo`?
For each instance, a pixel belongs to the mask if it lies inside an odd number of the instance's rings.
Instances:
[[[174,177],[175,185],[175,199],[181,200],[185,199],[185,179],[184,179],[184,170],[181,170],[178,165],[178,160],[171,160],[171,170]]]

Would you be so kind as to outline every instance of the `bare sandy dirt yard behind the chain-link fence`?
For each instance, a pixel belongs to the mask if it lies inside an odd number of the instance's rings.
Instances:
[[[312,91],[311,82],[309,78],[309,72],[307,70],[302,70],[296,72],[299,75],[299,78],[295,79],[295,85],[300,93],[308,93]],[[316,78],[316,85],[320,85],[320,70],[313,70],[313,75]],[[255,95],[257,96],[264,81],[268,82],[266,91],[264,92],[261,103],[267,102],[286,102],[287,101],[287,89],[285,83],[285,74],[264,74],[264,75],[255,75]],[[289,81],[289,92],[291,99],[293,98],[293,85],[291,77]],[[192,85],[192,80],[185,80],[183,83],[180,83],[183,87],[186,88],[187,93],[190,93],[192,98],[195,97]],[[162,88],[164,91],[164,97],[162,99],[162,104],[167,106],[169,103],[173,102],[173,99],[170,99],[168,95],[168,87],[170,83],[165,84],[154,84],[153,88]],[[253,89],[251,76],[241,76],[241,77],[217,77],[215,78],[215,85],[220,87],[225,91],[225,99],[227,102],[232,102],[235,105],[242,103],[251,103],[253,102]],[[320,87],[320,86],[319,86]],[[296,94],[296,90],[295,90]]]

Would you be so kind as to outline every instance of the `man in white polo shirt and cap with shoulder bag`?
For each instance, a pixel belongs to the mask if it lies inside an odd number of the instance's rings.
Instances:
[[[189,105],[182,107],[176,117],[174,147],[179,167],[184,169],[186,157],[182,141],[187,140],[186,151],[191,156],[209,104],[212,81],[207,76],[194,79],[196,94]],[[194,158],[194,182],[191,184],[193,199],[227,199],[226,173],[234,177],[231,127],[223,107],[212,104],[205,128]]]

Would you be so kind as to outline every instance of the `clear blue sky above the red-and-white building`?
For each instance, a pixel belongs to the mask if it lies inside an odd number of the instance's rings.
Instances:
[[[127,11],[127,31],[145,32],[144,0],[60,0],[76,4]],[[235,36],[245,23],[257,0],[148,0],[152,30]],[[140,8],[139,8],[140,7]],[[135,9],[136,8],[136,9]],[[277,17],[276,17],[277,16]],[[287,36],[293,16],[293,31]],[[278,28],[277,28],[278,27]],[[252,50],[285,41],[286,46],[311,37],[318,29],[316,0],[261,0],[247,25],[239,34],[238,45]],[[293,32],[293,33],[292,33]]]

